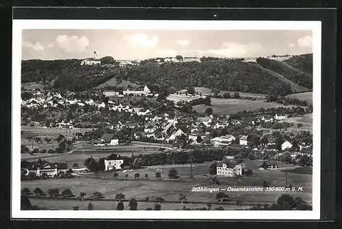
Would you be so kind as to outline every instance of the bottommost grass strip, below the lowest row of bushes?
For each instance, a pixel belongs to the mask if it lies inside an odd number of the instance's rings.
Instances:
[[[74,206],[79,206],[79,210],[87,210],[90,201],[79,200],[44,200],[30,198],[31,204],[36,204],[40,207],[47,207],[50,210],[73,210]],[[93,204],[93,210],[116,210],[118,202],[116,201],[91,201]],[[146,208],[152,208],[155,206],[155,202],[138,202],[137,210],[144,211]],[[186,208],[207,208],[207,204],[181,204],[181,203],[161,203],[161,210],[183,210],[183,206]],[[236,206],[236,205],[224,205],[215,204],[211,206],[211,209],[222,206],[224,210],[237,210],[248,209],[251,206]],[[129,202],[124,202],[124,210],[129,210]]]

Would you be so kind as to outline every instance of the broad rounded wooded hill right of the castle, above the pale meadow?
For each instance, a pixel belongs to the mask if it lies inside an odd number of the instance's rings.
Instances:
[[[124,73],[128,79],[166,85],[175,90],[189,86],[218,90],[291,94],[291,87],[269,72],[239,59],[215,59],[205,62],[156,64],[147,62],[132,66]]]

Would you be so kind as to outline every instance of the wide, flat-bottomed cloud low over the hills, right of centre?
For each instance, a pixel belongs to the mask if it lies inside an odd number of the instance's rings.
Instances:
[[[222,44],[221,49],[196,50],[199,55],[218,55],[223,57],[246,57],[253,55],[263,49],[263,46],[257,42],[248,44],[237,44],[234,42],[226,42]]]

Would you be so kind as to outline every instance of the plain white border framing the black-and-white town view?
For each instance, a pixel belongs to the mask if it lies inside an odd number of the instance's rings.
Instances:
[[[313,31],[313,211],[21,211],[21,45],[23,29],[235,29]],[[22,219],[319,219],[321,160],[321,21],[13,20],[12,218]],[[13,144],[16,143],[16,144]]]

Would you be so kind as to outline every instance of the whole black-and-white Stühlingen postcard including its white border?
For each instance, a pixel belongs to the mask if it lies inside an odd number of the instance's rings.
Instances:
[[[12,217],[320,217],[320,21],[14,20],[12,92]]]

